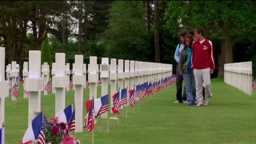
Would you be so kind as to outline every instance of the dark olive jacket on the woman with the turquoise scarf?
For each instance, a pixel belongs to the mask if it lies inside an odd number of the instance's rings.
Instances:
[[[182,49],[180,52],[180,60],[179,60],[179,73],[187,73],[188,72],[188,65],[186,65],[188,59],[188,51],[187,48]]]

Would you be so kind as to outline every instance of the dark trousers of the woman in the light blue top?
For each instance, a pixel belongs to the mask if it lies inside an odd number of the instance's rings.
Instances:
[[[183,96],[181,96],[183,77],[182,77],[182,75],[179,74],[178,68],[179,68],[179,64],[177,63],[177,67],[176,67],[176,88],[177,88],[176,99],[182,103],[182,99],[187,100],[187,96],[186,96],[185,90],[183,90]]]

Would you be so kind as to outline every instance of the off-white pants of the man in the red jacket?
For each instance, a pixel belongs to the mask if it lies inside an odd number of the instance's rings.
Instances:
[[[196,102],[203,104],[203,87],[205,90],[205,99],[212,97],[210,68],[194,69],[194,75],[196,80]]]

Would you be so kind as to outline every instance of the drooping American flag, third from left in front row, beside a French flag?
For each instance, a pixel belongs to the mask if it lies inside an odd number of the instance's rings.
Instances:
[[[90,132],[94,127],[94,100],[92,100],[92,105],[85,116],[84,130]]]

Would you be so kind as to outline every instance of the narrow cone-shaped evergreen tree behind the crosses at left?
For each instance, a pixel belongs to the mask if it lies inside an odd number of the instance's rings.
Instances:
[[[41,64],[44,64],[44,62],[47,62],[49,64],[50,69],[52,69],[52,58],[51,58],[50,46],[49,46],[49,41],[48,41],[48,36],[46,31],[44,31],[44,37],[45,38],[41,46]]]

